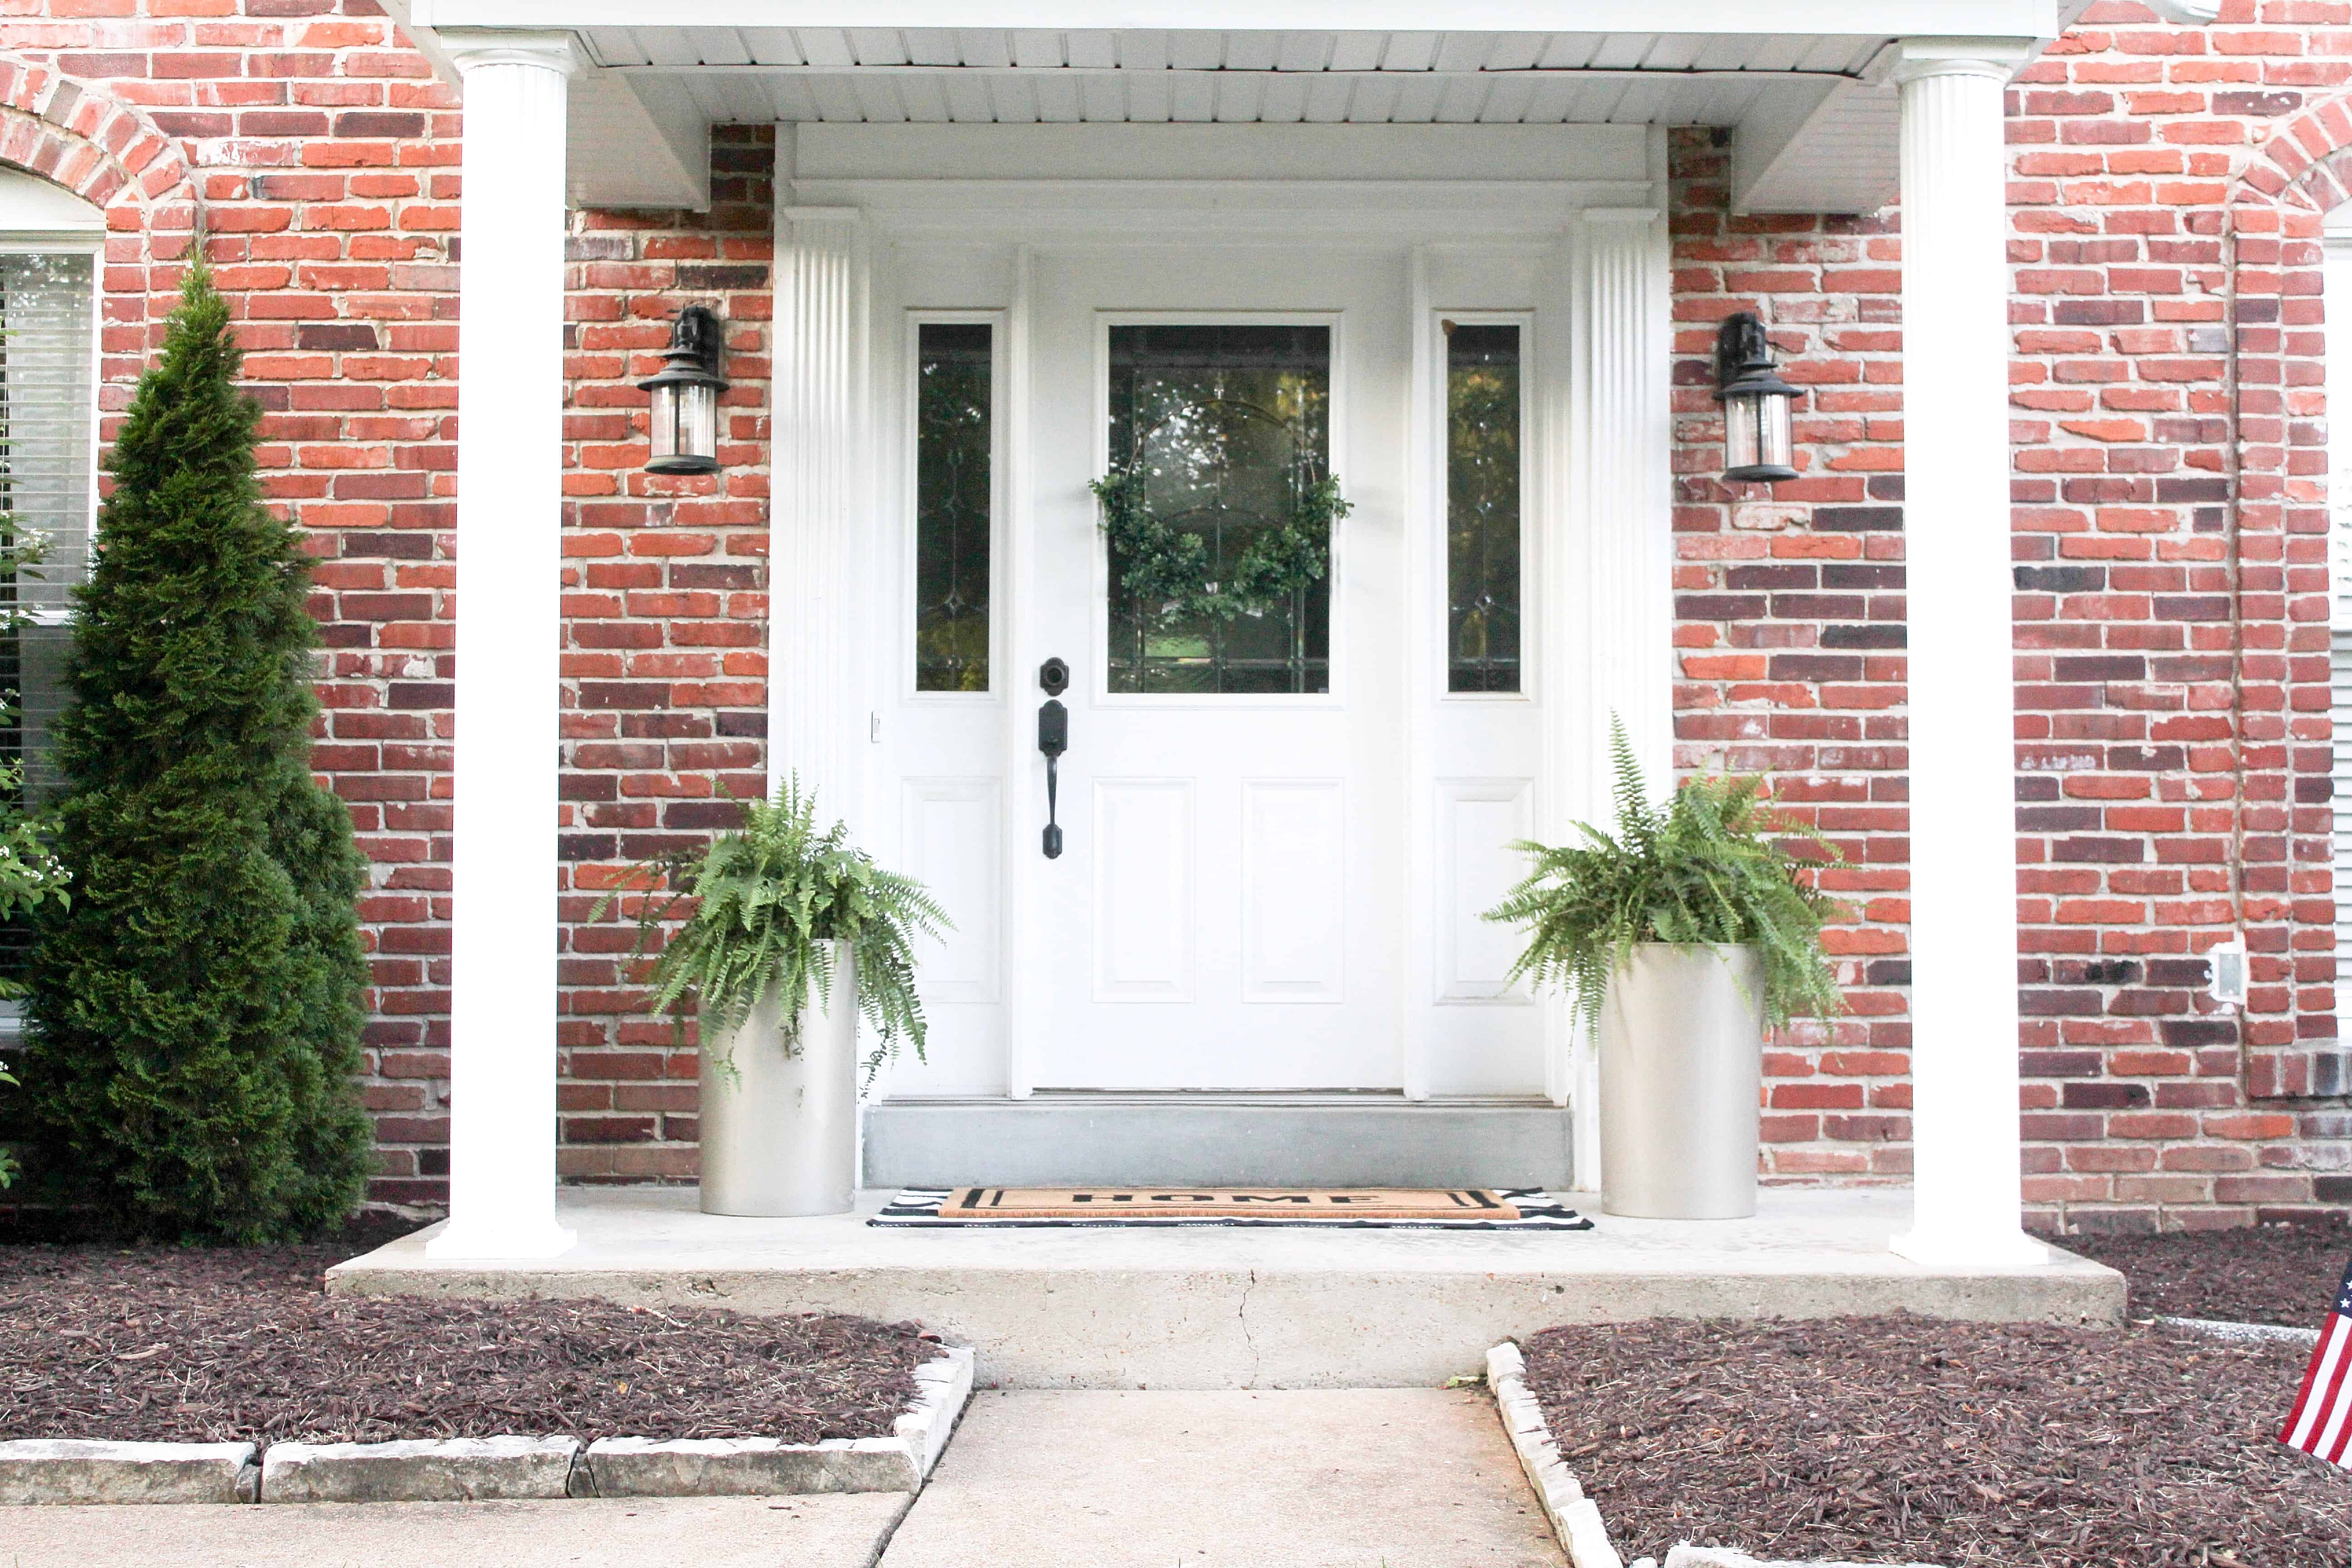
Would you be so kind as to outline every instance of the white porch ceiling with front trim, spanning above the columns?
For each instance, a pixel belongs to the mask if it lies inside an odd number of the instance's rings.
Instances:
[[[1197,19],[1188,28],[1051,26],[1073,19],[1056,0],[993,7],[1049,26],[978,28],[830,26],[847,9],[830,0],[412,2],[428,49],[440,26],[553,26],[579,38],[590,71],[574,80],[572,190],[583,205],[701,205],[708,127],[729,122],[1435,122],[1736,127],[1740,207],[1863,212],[1896,190],[1893,87],[1872,68],[1889,42],[1910,33],[2046,38],[2086,0],[1444,7],[1463,21],[1566,9],[1611,31],[1200,26],[1235,9],[1268,24],[1411,9],[1395,0],[1188,0],[1181,14]],[[856,9],[877,21],[988,14],[969,0]],[[1077,7],[1110,24],[1155,9],[1134,0]],[[1637,16],[1672,31],[1625,31]],[[1776,16],[1788,31],[1776,31]],[[783,26],[795,21],[828,26]]]

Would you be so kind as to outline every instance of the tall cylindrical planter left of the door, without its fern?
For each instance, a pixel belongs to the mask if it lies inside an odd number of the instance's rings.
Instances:
[[[833,994],[783,1034],[767,999],[703,1041],[703,1213],[849,1213],[858,1190],[858,973],[833,945]]]

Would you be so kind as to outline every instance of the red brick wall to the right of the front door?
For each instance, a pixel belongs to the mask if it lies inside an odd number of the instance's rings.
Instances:
[[[2274,129],[2343,118],[2317,106],[2352,75],[2345,24],[2340,0],[2234,0],[2211,31],[2107,0],[2011,92],[2037,1222],[2227,1225],[2352,1201],[2317,219],[2284,249],[2277,226],[2232,219]],[[1776,1041],[1766,1164],[1867,1178],[1907,1166],[1910,1133],[1898,214],[1733,216],[1726,150],[1710,132],[1675,141],[1677,733],[1686,766],[1780,776],[1846,853],[1828,884],[1858,914],[1835,933],[1853,1013]],[[1712,477],[1703,355],[1740,308],[1806,390],[1804,477],[1769,494]],[[2244,1018],[2204,994],[2201,954],[2237,929]]]

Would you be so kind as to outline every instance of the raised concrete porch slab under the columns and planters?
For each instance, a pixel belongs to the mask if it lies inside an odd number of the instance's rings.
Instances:
[[[1766,1190],[1752,1220],[1590,1232],[875,1229],[706,1215],[691,1187],[564,1187],[579,1234],[543,1262],[426,1255],[437,1227],[327,1272],[353,1295],[600,1295],[913,1319],[1025,1389],[1430,1387],[1555,1324],[1849,1316],[2117,1324],[2124,1276],[2072,1253],[1931,1269],[1886,1251],[1903,1190]]]

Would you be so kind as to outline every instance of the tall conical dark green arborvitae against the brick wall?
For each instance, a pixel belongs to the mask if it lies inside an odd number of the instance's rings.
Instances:
[[[19,1065],[38,1168],[111,1229],[266,1241],[369,1166],[350,813],[310,778],[308,557],[261,505],[228,306],[191,268],[139,383],[54,726],[71,907]]]

